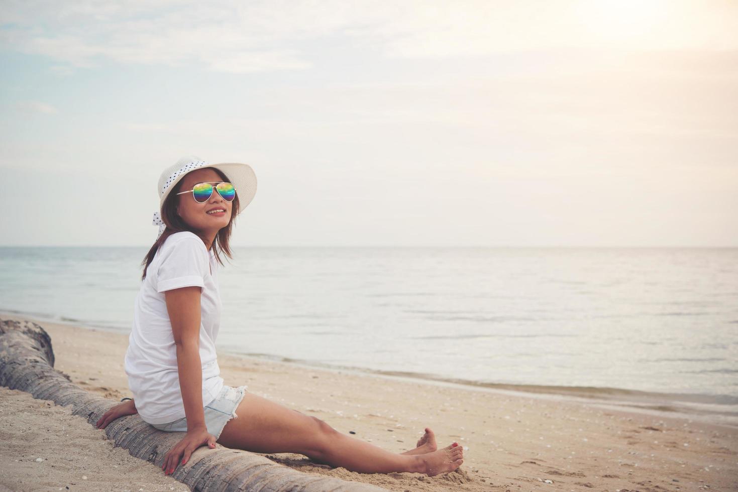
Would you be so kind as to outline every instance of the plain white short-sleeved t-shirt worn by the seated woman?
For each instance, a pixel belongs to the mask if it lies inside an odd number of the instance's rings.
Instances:
[[[125,373],[136,409],[148,423],[168,423],[185,417],[179,388],[176,344],[164,292],[199,285],[202,404],[223,389],[215,357],[215,338],[221,320],[217,262],[193,232],[170,235],[146,268],[146,278],[134,305],[134,322],[125,353]]]

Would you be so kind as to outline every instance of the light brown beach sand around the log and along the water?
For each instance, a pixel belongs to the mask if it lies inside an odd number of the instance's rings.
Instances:
[[[52,337],[55,367],[89,392],[130,397],[128,336],[29,316]],[[306,473],[393,491],[738,490],[738,429],[593,403],[452,384],[324,370],[218,353],[226,384],[307,415],[388,451],[414,448],[429,426],[439,446],[457,441],[464,462],[436,477],[359,474],[264,454]],[[128,455],[53,402],[0,387],[0,491],[187,491]],[[41,461],[38,461],[38,459]]]

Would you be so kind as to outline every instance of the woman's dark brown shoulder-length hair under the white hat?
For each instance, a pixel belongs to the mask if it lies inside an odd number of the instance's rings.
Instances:
[[[218,176],[221,177],[221,180],[228,181],[228,176],[226,176],[221,170],[215,169],[215,167],[201,167],[200,169],[212,169],[215,171],[215,173],[218,173]],[[187,176],[187,175],[184,175]],[[197,235],[200,239],[202,239],[202,242],[206,244],[207,246],[207,239],[203,238],[198,231],[190,227],[179,215],[177,215],[177,198],[181,195],[177,195],[177,192],[179,192],[179,188],[182,186],[182,179],[177,181],[177,184],[174,185],[173,190],[169,192],[169,195],[164,201],[164,204],[162,204],[162,221],[164,221],[164,224],[166,224],[167,228],[164,229],[164,232],[162,232],[162,235],[159,237],[159,239],[156,240],[154,243],[154,246],[151,246],[151,249],[148,250],[148,253],[146,254],[146,257],[141,262],[141,265],[143,266],[143,274],[141,276],[141,280],[144,280],[146,278],[146,268],[148,268],[149,264],[151,264],[151,261],[154,260],[154,255],[156,254],[156,251],[159,249],[159,246],[162,246],[164,241],[170,236],[173,235],[176,232],[182,232],[182,231],[190,231],[193,232],[193,234]],[[213,191],[213,193],[218,193],[217,191]],[[233,227],[233,221],[235,219],[236,212],[238,211],[238,193],[236,193],[235,198],[233,198],[233,201],[231,202],[231,218],[230,221],[228,221],[228,225],[225,226],[223,229],[218,231],[218,234],[215,235],[215,239],[213,239],[213,245],[210,246],[210,249],[213,249],[213,254],[215,254],[215,260],[218,261],[221,265],[223,265],[223,261],[221,260],[219,252],[223,252],[227,257],[232,258],[231,252],[230,252],[230,246],[228,244],[228,240],[231,235],[232,227]]]

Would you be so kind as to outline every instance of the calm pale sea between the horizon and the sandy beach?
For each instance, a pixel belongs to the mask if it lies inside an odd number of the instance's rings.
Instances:
[[[0,311],[130,333],[147,247],[0,247]],[[235,247],[218,351],[738,426],[738,249]]]

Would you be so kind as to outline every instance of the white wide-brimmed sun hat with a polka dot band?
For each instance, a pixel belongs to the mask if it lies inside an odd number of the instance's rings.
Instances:
[[[156,187],[156,193],[159,195],[159,210],[154,212],[154,220],[151,221],[151,225],[159,226],[159,235],[156,236],[156,239],[159,239],[167,228],[164,221],[162,221],[161,209],[169,192],[187,173],[201,167],[215,167],[215,169],[221,170],[227,176],[228,181],[233,184],[235,193],[238,195],[238,210],[232,211],[234,216],[241,213],[251,203],[256,194],[256,175],[249,164],[236,162],[208,164],[196,156],[182,157],[175,164],[163,170],[162,175],[159,176],[159,186]]]

